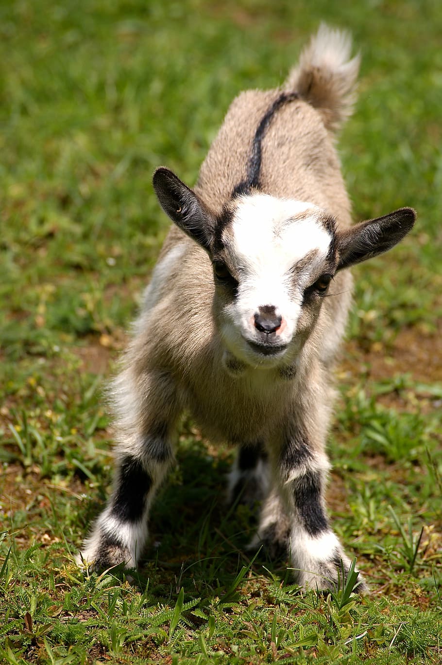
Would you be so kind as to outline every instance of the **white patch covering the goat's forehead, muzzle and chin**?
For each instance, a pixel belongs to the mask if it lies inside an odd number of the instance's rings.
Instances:
[[[292,355],[299,351],[294,336],[303,290],[311,284],[331,243],[331,234],[321,222],[324,213],[313,203],[268,194],[239,199],[223,237],[239,284],[236,298],[224,310],[222,334],[236,357],[269,367],[281,363],[289,345]],[[310,253],[310,260],[297,267]],[[275,319],[281,317],[273,337],[261,334],[255,325],[259,307],[265,306],[275,308]],[[263,354],[250,343],[273,349]]]

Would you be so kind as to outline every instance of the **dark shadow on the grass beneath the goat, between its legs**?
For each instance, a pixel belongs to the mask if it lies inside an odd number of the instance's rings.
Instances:
[[[251,510],[226,502],[228,457],[212,458],[202,444],[179,451],[177,467],[153,502],[143,563],[128,571],[141,591],[149,584],[149,601],[171,598],[181,587],[186,597],[221,599],[243,567],[289,578],[286,562],[271,561],[263,549],[258,555],[246,549],[259,505]],[[125,573],[117,567],[112,575],[122,579]]]

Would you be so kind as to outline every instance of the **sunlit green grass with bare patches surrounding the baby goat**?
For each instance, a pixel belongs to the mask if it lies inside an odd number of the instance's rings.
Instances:
[[[19,0],[0,19],[0,660],[440,662],[439,3]],[[338,369],[329,505],[372,595],[301,595],[251,559],[251,515],[222,504],[232,451],[188,419],[145,568],[80,573],[111,479],[102,391],[167,233],[151,174],[194,182],[232,98],[281,82],[321,20],[362,51],[354,217],[418,213],[354,270]]]

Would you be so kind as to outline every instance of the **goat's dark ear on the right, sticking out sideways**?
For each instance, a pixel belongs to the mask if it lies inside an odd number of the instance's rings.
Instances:
[[[341,231],[336,237],[339,253],[338,270],[371,259],[388,251],[413,228],[416,213],[400,208],[384,217],[361,221]]]

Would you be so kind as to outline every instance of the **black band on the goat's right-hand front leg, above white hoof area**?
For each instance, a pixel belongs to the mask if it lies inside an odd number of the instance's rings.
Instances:
[[[319,471],[309,471],[297,478],[293,485],[295,504],[303,526],[311,536],[329,529],[329,522],[322,505],[322,478]]]

